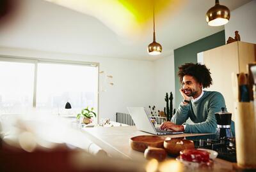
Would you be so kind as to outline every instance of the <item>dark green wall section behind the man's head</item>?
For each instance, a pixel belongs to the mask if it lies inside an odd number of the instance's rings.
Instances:
[[[197,54],[215,47],[225,45],[225,30],[207,36],[203,39],[185,45],[174,50],[174,68],[175,68],[175,106],[176,109],[182,101],[179,89],[181,87],[178,71],[179,66],[186,62],[197,62]]]

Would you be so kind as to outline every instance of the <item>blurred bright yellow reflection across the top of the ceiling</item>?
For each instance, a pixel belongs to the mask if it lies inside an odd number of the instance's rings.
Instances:
[[[155,17],[163,11],[177,10],[186,0],[45,0],[99,19],[119,36],[139,36],[152,30]],[[166,15],[166,18],[170,16]],[[158,21],[158,19],[157,19]],[[150,26],[150,27],[149,27]]]

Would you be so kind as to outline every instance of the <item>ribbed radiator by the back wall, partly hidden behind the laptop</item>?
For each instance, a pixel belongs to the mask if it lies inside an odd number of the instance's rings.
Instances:
[[[154,117],[154,116],[149,116],[150,118],[156,119],[157,124],[162,124],[164,121],[166,121],[166,117]],[[116,122],[122,123],[122,124],[127,124],[127,125],[135,125],[132,117],[129,113],[116,113]]]

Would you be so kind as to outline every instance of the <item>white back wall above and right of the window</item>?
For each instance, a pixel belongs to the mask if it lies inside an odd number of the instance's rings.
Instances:
[[[100,71],[113,75],[113,87],[99,93],[99,117],[115,120],[116,112],[127,112],[127,106],[148,106],[154,100],[154,69],[151,61],[134,61],[108,57],[60,54],[0,47],[1,55],[37,57],[66,61],[99,62]],[[101,82],[100,82],[101,83]],[[157,89],[158,90],[158,89]]]

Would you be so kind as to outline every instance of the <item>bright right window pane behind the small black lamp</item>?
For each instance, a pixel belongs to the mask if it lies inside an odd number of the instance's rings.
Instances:
[[[36,107],[65,113],[69,102],[77,113],[97,106],[97,68],[70,64],[38,63]]]

